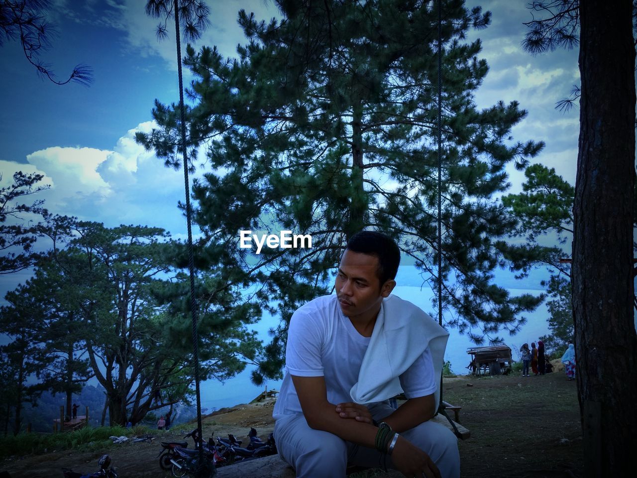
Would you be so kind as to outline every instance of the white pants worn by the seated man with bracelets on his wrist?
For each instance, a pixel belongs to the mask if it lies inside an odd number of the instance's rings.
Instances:
[[[369,410],[374,419],[389,416],[394,409],[378,403]],[[385,465],[382,454],[308,426],[303,414],[276,420],[275,441],[279,456],[296,470],[297,478],[345,477],[347,465],[377,468]],[[460,454],[454,433],[439,423],[426,421],[401,435],[427,453],[443,478],[460,476]],[[387,468],[395,468],[387,456]]]

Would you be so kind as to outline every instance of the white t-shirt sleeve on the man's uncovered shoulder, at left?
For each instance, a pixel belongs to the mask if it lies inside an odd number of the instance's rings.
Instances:
[[[321,349],[325,337],[318,314],[306,314],[298,310],[290,319],[285,349],[285,366],[290,375],[298,377],[323,377]]]

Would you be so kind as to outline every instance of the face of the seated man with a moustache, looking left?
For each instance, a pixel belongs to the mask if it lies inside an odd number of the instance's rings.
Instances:
[[[376,256],[347,249],[341,257],[336,275],[336,296],[343,314],[350,319],[373,319],[383,298],[394,289],[394,280],[381,286],[377,268]]]

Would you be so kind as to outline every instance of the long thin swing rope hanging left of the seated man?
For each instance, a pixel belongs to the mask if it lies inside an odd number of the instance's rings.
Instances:
[[[201,430],[201,392],[199,389],[199,335],[197,334],[197,315],[199,306],[197,305],[197,297],[195,295],[195,265],[194,254],[192,252],[192,222],[190,210],[190,182],[188,178],[188,156],[186,151],[186,114],[183,106],[183,78],[182,78],[182,45],[180,41],[179,29],[179,0],[175,2],[175,35],[177,39],[177,64],[179,77],[179,108],[181,110],[181,129],[182,129],[182,152],[183,152],[183,183],[186,192],[186,222],[188,226],[188,269],[190,273],[190,314],[192,315],[192,367],[195,375],[195,393],[197,398],[197,436],[199,437],[199,461],[197,463],[197,478],[211,475],[214,471],[208,470],[207,464],[203,458],[203,432]]]

